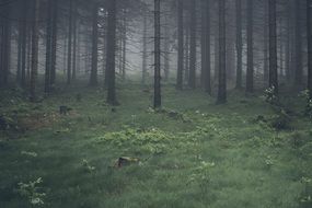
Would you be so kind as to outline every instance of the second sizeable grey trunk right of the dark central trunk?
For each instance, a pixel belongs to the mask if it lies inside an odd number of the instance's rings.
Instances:
[[[189,49],[189,78],[188,86],[196,88],[196,1],[190,1],[190,49]]]

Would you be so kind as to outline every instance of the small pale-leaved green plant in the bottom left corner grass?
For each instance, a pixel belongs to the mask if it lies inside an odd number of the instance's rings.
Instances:
[[[43,183],[42,177],[37,178],[34,182],[28,182],[26,184],[20,182],[18,184],[19,185],[18,193],[22,197],[26,197],[33,206],[42,206],[44,205],[44,197],[46,196],[44,192],[41,192],[42,188],[38,187],[38,185],[42,183]]]

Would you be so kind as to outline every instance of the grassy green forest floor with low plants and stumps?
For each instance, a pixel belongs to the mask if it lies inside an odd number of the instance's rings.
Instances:
[[[216,105],[167,85],[155,112],[137,84],[117,107],[77,91],[35,104],[1,93],[1,208],[312,207],[312,122],[296,94],[277,112],[261,93]]]

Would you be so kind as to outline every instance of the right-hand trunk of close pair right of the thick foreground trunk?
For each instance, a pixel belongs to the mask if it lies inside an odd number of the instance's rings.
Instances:
[[[253,55],[253,0],[247,1],[247,73],[246,93],[254,91],[254,55]]]

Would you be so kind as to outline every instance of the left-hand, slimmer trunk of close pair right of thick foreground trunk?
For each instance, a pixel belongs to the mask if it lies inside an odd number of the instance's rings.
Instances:
[[[242,88],[243,38],[242,38],[242,0],[236,0],[236,89]]]

